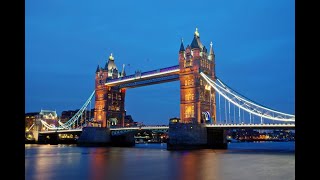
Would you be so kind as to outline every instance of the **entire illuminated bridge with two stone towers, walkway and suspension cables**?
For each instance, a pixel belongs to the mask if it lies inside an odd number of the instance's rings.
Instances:
[[[196,29],[190,45],[185,47],[184,42],[181,41],[178,51],[178,65],[147,72],[136,71],[134,74],[126,75],[124,66],[120,71],[111,54],[104,67],[98,65],[95,72],[95,90],[78,113],[66,123],[59,122],[58,127],[44,121],[41,122],[48,130],[70,130],[95,97],[92,123],[97,127],[111,127],[110,130],[113,132],[128,130],[124,128],[127,90],[180,81],[180,122],[178,124],[185,125],[169,124],[164,127],[171,129],[172,132],[179,128],[193,128],[190,130],[191,134],[200,134],[198,139],[207,139],[209,136],[216,136],[215,134],[219,134],[217,137],[220,138],[220,134],[230,128],[294,129],[295,115],[251,101],[223,83],[216,76],[215,68],[216,59],[213,44],[211,42],[209,49],[207,49],[200,40],[198,29]],[[273,123],[265,123],[265,120]],[[137,127],[131,129],[135,128]],[[203,133],[204,128],[208,129],[208,134]],[[183,136],[190,135],[184,133],[183,131],[176,132],[176,134]],[[181,137],[177,136],[176,138]],[[215,140],[209,139],[215,143]],[[223,143],[223,141],[220,138],[219,143]]]

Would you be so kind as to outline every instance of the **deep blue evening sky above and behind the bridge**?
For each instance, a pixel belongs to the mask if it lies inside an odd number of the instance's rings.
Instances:
[[[97,65],[113,53],[127,74],[178,64],[195,28],[216,75],[266,107],[295,114],[295,1],[25,2],[25,112],[80,109]],[[144,124],[180,116],[179,81],[128,89],[127,114]],[[92,103],[91,108],[94,107]]]

